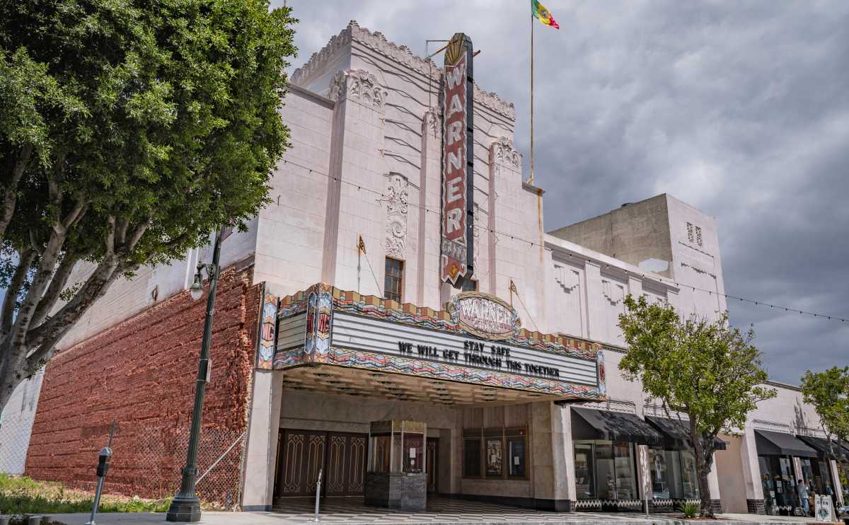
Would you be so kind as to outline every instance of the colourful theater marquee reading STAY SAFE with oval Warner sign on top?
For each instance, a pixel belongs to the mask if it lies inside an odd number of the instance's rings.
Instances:
[[[600,348],[520,328],[514,309],[486,294],[459,294],[437,311],[319,284],[281,300],[273,368],[329,365],[599,399]]]

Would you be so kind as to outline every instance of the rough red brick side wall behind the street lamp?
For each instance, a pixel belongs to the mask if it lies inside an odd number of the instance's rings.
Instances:
[[[261,294],[261,285],[251,285],[252,269],[229,269],[218,283],[201,472],[246,428]],[[58,353],[44,376],[25,473],[93,488],[98,451],[115,418],[104,491],[174,494],[185,462],[205,304],[206,296],[194,301],[183,291]],[[207,499],[223,500],[225,492],[235,499],[239,451],[205,480]]]

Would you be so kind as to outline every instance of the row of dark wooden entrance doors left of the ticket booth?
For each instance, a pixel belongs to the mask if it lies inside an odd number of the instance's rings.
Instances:
[[[319,469],[322,495],[362,495],[367,443],[368,434],[282,430],[274,495],[315,496]]]

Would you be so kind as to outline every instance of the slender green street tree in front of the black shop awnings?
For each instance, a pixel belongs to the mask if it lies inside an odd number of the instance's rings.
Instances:
[[[628,349],[619,368],[627,379],[642,383],[649,399],[659,399],[667,415],[686,422],[701,516],[711,517],[707,475],[715,438],[744,426],[756,404],[776,393],[763,386],[767,373],[761,353],[751,344],[754,332],[744,335],[730,327],[728,313],[715,321],[695,315],[681,319],[670,304],[648,302],[645,296],[627,296],[625,306],[619,326]]]

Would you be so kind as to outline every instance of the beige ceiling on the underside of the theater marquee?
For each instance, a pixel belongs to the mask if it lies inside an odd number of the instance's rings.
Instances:
[[[333,364],[280,370],[285,391],[351,398],[382,398],[413,403],[497,406],[564,399],[563,396],[513,388],[441,381],[416,375],[361,370]]]

